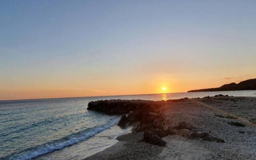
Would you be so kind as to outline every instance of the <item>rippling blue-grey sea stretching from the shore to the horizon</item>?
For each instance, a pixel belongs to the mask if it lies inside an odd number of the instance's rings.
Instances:
[[[86,110],[105,99],[168,100],[228,94],[256,96],[256,91],[192,92],[0,101],[0,160],[81,160],[129,132],[116,124],[120,116]]]

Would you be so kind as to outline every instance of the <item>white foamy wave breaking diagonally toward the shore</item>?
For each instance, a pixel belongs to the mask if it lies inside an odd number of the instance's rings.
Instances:
[[[58,141],[50,142],[47,144],[42,144],[33,149],[21,152],[19,154],[12,155],[8,158],[8,160],[30,160],[30,159],[40,156],[42,154],[46,154],[46,153],[52,152],[54,150],[59,150],[61,148],[70,146],[72,144],[76,144],[82,140],[86,140],[86,139],[94,136],[95,134],[102,132],[102,131],[116,125],[119,120],[120,120],[120,118],[116,118],[107,124],[103,124],[101,126],[90,128],[84,132],[81,132],[78,134],[73,134],[71,136],[68,136],[68,137],[63,138]]]

